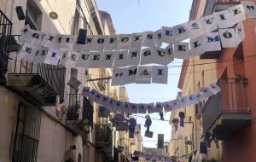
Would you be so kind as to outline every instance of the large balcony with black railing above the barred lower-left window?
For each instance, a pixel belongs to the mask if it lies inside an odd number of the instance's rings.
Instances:
[[[17,57],[9,62],[8,86],[42,107],[55,106],[56,96],[64,101],[65,67],[33,64]]]

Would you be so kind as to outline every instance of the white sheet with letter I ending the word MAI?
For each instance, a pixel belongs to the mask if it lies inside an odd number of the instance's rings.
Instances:
[[[152,72],[152,83],[167,84],[168,83],[168,67],[154,66]]]

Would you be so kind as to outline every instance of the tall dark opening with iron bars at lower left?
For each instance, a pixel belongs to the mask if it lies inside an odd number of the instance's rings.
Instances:
[[[39,108],[20,101],[16,118],[13,162],[37,161],[40,125]]]

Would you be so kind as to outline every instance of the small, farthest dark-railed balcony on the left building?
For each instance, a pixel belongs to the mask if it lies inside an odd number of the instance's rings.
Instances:
[[[96,148],[110,148],[113,143],[112,138],[109,124],[96,124]]]

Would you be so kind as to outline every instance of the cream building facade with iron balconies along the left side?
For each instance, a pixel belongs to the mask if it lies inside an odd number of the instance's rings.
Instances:
[[[25,20],[18,19],[17,6]],[[16,56],[26,25],[56,34],[78,35],[82,28],[88,35],[109,35],[114,34],[110,15],[94,0],[1,0],[0,10],[0,161],[113,161],[111,124],[98,117],[98,104],[81,95],[85,85],[117,96],[118,88],[101,79],[112,71],[32,64]],[[79,87],[67,84],[71,78]],[[102,143],[108,149],[102,150]]]

